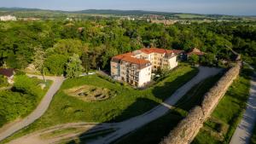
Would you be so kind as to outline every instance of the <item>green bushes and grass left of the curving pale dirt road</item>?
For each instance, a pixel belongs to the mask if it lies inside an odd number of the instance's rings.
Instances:
[[[45,90],[38,84],[42,80],[16,75],[13,89],[0,93],[0,127],[15,118],[26,117],[38,105]]]

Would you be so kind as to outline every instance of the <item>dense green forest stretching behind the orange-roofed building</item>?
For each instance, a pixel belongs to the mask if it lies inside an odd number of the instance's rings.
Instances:
[[[0,66],[25,69],[33,63],[38,49],[44,72],[67,75],[73,63],[79,70],[109,71],[113,55],[143,47],[193,48],[206,52],[206,65],[218,66],[231,60],[230,49],[247,62],[256,63],[255,22],[176,23],[172,26],[144,20],[38,20],[0,22]]]

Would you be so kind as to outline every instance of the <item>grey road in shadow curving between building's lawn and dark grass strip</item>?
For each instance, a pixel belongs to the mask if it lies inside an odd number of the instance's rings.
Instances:
[[[199,84],[205,78],[209,78],[213,75],[216,75],[218,74],[218,72],[221,71],[218,68],[210,68],[204,66],[200,66],[199,70],[200,72],[195,76],[195,78],[192,78],[187,84],[184,84],[182,87],[177,89],[172,95],[170,95],[170,97],[166,101],[161,103],[159,106],[154,107],[150,111],[145,112],[137,117],[130,118],[128,120],[125,120],[124,122],[113,124],[119,129],[109,135],[106,135],[105,137],[92,141],[86,141],[86,143],[111,143],[113,141],[118,140],[121,136],[127,135],[131,133],[131,131],[137,130],[143,125],[148,124],[153,120],[164,116],[170,109],[172,109],[172,106],[174,106],[177,103],[177,101],[179,101],[183,97],[183,95],[185,95],[189,91],[189,89],[195,86],[195,84]]]

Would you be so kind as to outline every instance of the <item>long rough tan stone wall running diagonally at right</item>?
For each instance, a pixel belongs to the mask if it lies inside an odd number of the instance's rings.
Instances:
[[[218,102],[239,75],[240,69],[241,61],[238,61],[236,66],[231,67],[230,70],[220,78],[218,83],[204,95],[201,106],[193,108],[188,116],[177,124],[177,127],[174,128],[160,144],[188,144],[193,141],[204,122],[211,116]]]

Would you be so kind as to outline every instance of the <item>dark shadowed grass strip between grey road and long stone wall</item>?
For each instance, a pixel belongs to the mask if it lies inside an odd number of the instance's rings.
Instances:
[[[183,98],[177,102],[177,109],[167,113],[165,116],[154,120],[153,122],[143,126],[143,128],[126,135],[115,144],[155,144],[159,143],[164,136],[177,125],[177,123],[185,117],[186,113],[195,105],[201,103],[202,97],[212,86],[218,81],[221,74],[212,78],[207,78],[200,84],[195,85]],[[147,136],[145,136],[147,135]]]

